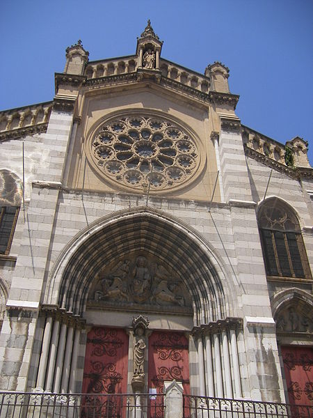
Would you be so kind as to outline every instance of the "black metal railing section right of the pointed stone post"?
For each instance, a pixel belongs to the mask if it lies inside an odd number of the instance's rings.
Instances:
[[[312,418],[313,406],[183,395],[184,418]]]

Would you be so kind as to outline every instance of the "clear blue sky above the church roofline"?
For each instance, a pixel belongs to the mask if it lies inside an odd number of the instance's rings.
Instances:
[[[313,165],[312,0],[2,0],[0,109],[54,97],[54,72],[79,38],[90,60],[134,54],[150,19],[163,58],[198,72],[221,61],[244,125],[309,141]]]

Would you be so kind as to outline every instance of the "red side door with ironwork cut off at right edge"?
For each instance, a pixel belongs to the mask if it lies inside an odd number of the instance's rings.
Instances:
[[[282,346],[289,403],[313,405],[313,348]]]

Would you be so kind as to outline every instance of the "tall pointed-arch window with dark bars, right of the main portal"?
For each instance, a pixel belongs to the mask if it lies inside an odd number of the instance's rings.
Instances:
[[[258,212],[266,274],[312,279],[295,213],[279,199],[268,199]]]

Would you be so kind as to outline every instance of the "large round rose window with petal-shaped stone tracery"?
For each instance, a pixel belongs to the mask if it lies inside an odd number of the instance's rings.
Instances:
[[[172,121],[125,116],[105,123],[92,139],[97,167],[114,182],[134,189],[169,189],[188,181],[199,166],[195,141]]]

